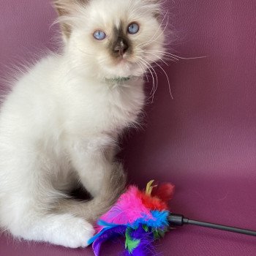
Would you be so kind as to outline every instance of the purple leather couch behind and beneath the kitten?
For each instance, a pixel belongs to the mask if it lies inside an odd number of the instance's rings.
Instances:
[[[192,58],[159,69],[159,89],[146,126],[124,138],[129,181],[176,184],[174,212],[256,230],[256,2],[168,1],[176,31],[173,53]],[[54,48],[50,0],[0,1],[0,76],[7,66]],[[151,84],[148,83],[148,88]],[[115,241],[102,255],[118,255]],[[162,255],[255,256],[256,238],[181,227],[157,243]],[[14,241],[0,236],[1,256],[93,255],[88,249]],[[161,254],[159,254],[161,255]]]

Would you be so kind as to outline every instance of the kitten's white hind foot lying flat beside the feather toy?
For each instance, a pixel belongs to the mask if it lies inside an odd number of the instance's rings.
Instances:
[[[13,236],[28,241],[42,241],[70,248],[86,247],[94,228],[83,218],[72,214],[42,214],[26,209],[23,217],[7,229]]]

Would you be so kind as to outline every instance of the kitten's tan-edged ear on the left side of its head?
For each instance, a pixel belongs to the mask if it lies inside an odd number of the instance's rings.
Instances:
[[[90,0],[54,0],[53,7],[59,15],[59,23],[61,25],[61,30],[64,35],[64,39],[68,39],[72,26],[70,24],[69,18],[76,12],[78,12],[79,7],[84,7],[88,4]]]

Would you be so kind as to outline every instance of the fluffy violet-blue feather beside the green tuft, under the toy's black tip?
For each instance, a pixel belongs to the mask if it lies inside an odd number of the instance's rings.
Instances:
[[[132,230],[129,234],[132,240],[140,240],[140,244],[130,254],[127,250],[124,256],[151,256],[156,255],[153,242],[154,235],[151,232],[146,232],[142,225],[137,230]]]

